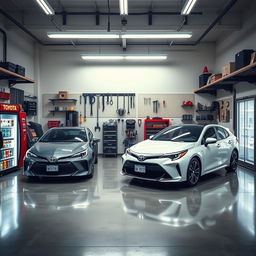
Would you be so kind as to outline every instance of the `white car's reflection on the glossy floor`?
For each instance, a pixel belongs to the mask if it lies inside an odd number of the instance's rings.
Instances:
[[[205,183],[181,191],[152,191],[131,184],[121,188],[123,209],[139,219],[157,221],[172,227],[198,225],[206,230],[216,225],[217,216],[233,211],[238,199],[238,177],[220,177],[218,183]]]

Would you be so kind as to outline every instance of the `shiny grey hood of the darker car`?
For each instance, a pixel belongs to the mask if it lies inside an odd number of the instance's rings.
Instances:
[[[75,153],[81,152],[88,147],[88,142],[37,142],[30,152],[37,156],[49,157],[67,157]]]

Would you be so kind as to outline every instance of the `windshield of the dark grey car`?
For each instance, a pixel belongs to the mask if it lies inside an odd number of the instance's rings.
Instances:
[[[87,134],[79,129],[52,129],[40,142],[87,142]]]

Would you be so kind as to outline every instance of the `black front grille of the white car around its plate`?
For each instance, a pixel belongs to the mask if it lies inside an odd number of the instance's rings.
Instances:
[[[136,165],[144,165],[146,167],[146,173],[135,172]],[[160,178],[171,179],[172,177],[158,164],[153,163],[137,163],[133,161],[126,161],[123,166],[123,171],[128,175],[133,175],[136,177],[147,178],[158,180]]]

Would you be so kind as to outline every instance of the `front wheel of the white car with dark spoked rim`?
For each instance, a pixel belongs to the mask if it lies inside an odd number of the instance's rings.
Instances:
[[[187,185],[195,186],[201,176],[201,163],[198,158],[194,157],[190,160],[187,169]]]

